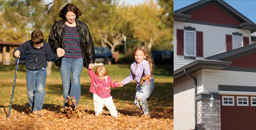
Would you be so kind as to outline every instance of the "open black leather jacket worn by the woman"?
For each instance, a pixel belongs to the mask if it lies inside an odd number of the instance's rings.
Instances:
[[[55,22],[51,28],[49,35],[49,44],[51,45],[52,52],[57,53],[57,48],[64,48],[64,36],[65,36],[65,22],[63,19],[61,21]],[[95,51],[92,42],[92,37],[89,32],[89,28],[86,24],[76,19],[77,24],[77,34],[80,39],[80,44],[82,48],[82,57],[84,58],[84,67],[88,68],[90,63],[95,62]],[[61,68],[62,58],[55,62],[55,65]]]

